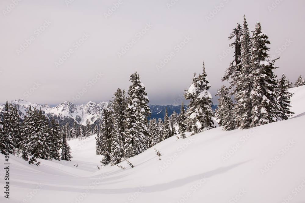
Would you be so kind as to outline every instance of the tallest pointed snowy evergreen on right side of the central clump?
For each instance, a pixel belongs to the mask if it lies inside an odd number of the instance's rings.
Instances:
[[[149,138],[147,117],[151,112],[145,87],[137,72],[130,76],[132,85],[129,87],[126,108],[124,157],[129,158],[148,149]]]

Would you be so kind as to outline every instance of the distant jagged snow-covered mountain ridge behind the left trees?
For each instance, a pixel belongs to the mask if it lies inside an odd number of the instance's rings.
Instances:
[[[40,105],[36,103],[30,103],[25,100],[13,100],[9,103],[14,104],[19,109],[20,117],[23,119],[24,115],[26,115],[26,109],[31,105],[36,109],[41,109],[45,112],[45,114],[50,116],[56,116],[59,118],[63,117],[71,117],[79,124],[85,124],[86,120],[89,119],[91,123],[94,123],[97,119],[102,118],[102,110],[107,106],[107,102],[95,103],[95,102],[88,102],[87,104],[82,104],[80,106],[75,105],[71,102],[64,102],[56,107],[50,107],[48,105]],[[0,112],[4,104],[0,105]]]

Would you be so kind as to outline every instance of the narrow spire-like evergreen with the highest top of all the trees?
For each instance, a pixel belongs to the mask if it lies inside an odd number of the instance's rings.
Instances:
[[[251,70],[251,37],[249,26],[244,16],[244,24],[242,28],[241,37],[241,68],[239,72],[238,81],[235,83],[236,105],[234,106],[234,112],[236,115],[237,126],[241,129],[250,128],[251,124],[251,110],[252,104],[250,100],[250,93],[252,90],[252,84],[250,80]]]

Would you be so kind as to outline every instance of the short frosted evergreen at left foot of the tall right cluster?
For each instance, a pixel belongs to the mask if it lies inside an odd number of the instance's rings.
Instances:
[[[217,99],[218,105],[215,110],[215,117],[219,119],[218,124],[223,127],[224,130],[234,130],[235,120],[233,112],[233,101],[228,93],[228,89],[223,85],[221,89],[218,89]],[[215,96],[216,96],[215,95]]]

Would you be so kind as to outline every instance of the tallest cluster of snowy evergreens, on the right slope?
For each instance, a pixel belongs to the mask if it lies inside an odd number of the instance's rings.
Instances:
[[[229,39],[235,41],[229,46],[235,48],[235,59],[226,71],[222,81],[231,78],[231,86],[218,90],[218,107],[215,115],[224,130],[247,129],[259,125],[288,119],[291,84],[285,75],[276,79],[274,62],[267,51],[270,44],[256,23],[252,35],[244,16],[243,26],[238,24]],[[231,90],[231,93],[229,93]],[[235,103],[231,99],[234,95]]]

